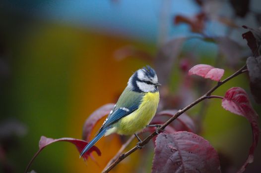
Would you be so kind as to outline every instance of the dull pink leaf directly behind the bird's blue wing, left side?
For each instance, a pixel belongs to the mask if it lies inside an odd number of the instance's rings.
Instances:
[[[93,127],[97,124],[97,122],[102,119],[104,116],[108,115],[110,111],[113,109],[115,104],[108,103],[103,105],[102,107],[96,109],[85,121],[82,129],[82,139],[89,141],[90,135]]]

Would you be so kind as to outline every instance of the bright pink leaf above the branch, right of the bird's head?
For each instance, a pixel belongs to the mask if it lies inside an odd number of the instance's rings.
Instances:
[[[214,81],[220,81],[224,75],[224,70],[212,67],[211,65],[198,64],[189,70],[189,75],[198,75],[203,78],[210,78]]]

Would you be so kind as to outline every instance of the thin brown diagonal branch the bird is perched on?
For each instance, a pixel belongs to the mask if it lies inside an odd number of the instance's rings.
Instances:
[[[158,128],[158,131],[162,131],[164,130],[170,123],[172,123],[175,119],[177,119],[181,114],[183,114],[184,112],[186,112],[187,110],[189,110],[190,108],[192,108],[193,106],[195,106],[197,103],[201,102],[202,100],[208,99],[208,98],[222,98],[220,96],[216,96],[216,95],[210,95],[213,91],[215,91],[218,87],[220,87],[221,85],[225,84],[226,82],[228,82],[229,80],[233,79],[234,77],[240,75],[241,73],[246,72],[247,69],[247,65],[245,64],[241,69],[239,69],[238,71],[236,71],[234,74],[232,74],[231,76],[229,76],[228,78],[224,79],[223,81],[219,81],[215,87],[212,87],[209,91],[207,91],[204,95],[202,95],[201,97],[199,97],[198,99],[196,99],[194,102],[192,102],[191,104],[189,104],[188,106],[180,109],[178,112],[176,112],[176,114],[171,117],[166,123],[164,123],[163,125],[161,125],[161,127]],[[146,145],[150,139],[152,139],[155,135],[157,135],[156,131],[154,131],[153,133],[151,133],[149,136],[147,136],[140,144],[139,146],[144,146]],[[131,153],[133,153],[134,151],[136,151],[138,148],[135,146],[133,147],[131,150],[127,151],[126,153],[120,155],[120,157],[118,157],[117,160],[115,160],[109,167],[107,167],[103,173],[109,173],[109,171],[111,171],[116,165],[118,165],[123,159],[125,159],[126,157],[128,157],[129,155],[131,155]]]

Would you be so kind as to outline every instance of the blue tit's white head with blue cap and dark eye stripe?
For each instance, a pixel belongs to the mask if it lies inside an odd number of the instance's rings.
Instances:
[[[161,85],[158,83],[156,72],[150,66],[146,66],[131,76],[127,87],[136,92],[156,92],[158,86]]]

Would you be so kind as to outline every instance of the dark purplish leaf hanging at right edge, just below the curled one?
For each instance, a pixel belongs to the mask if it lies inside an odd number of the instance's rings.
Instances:
[[[247,67],[250,77],[250,89],[257,103],[261,103],[261,56],[249,57]]]

